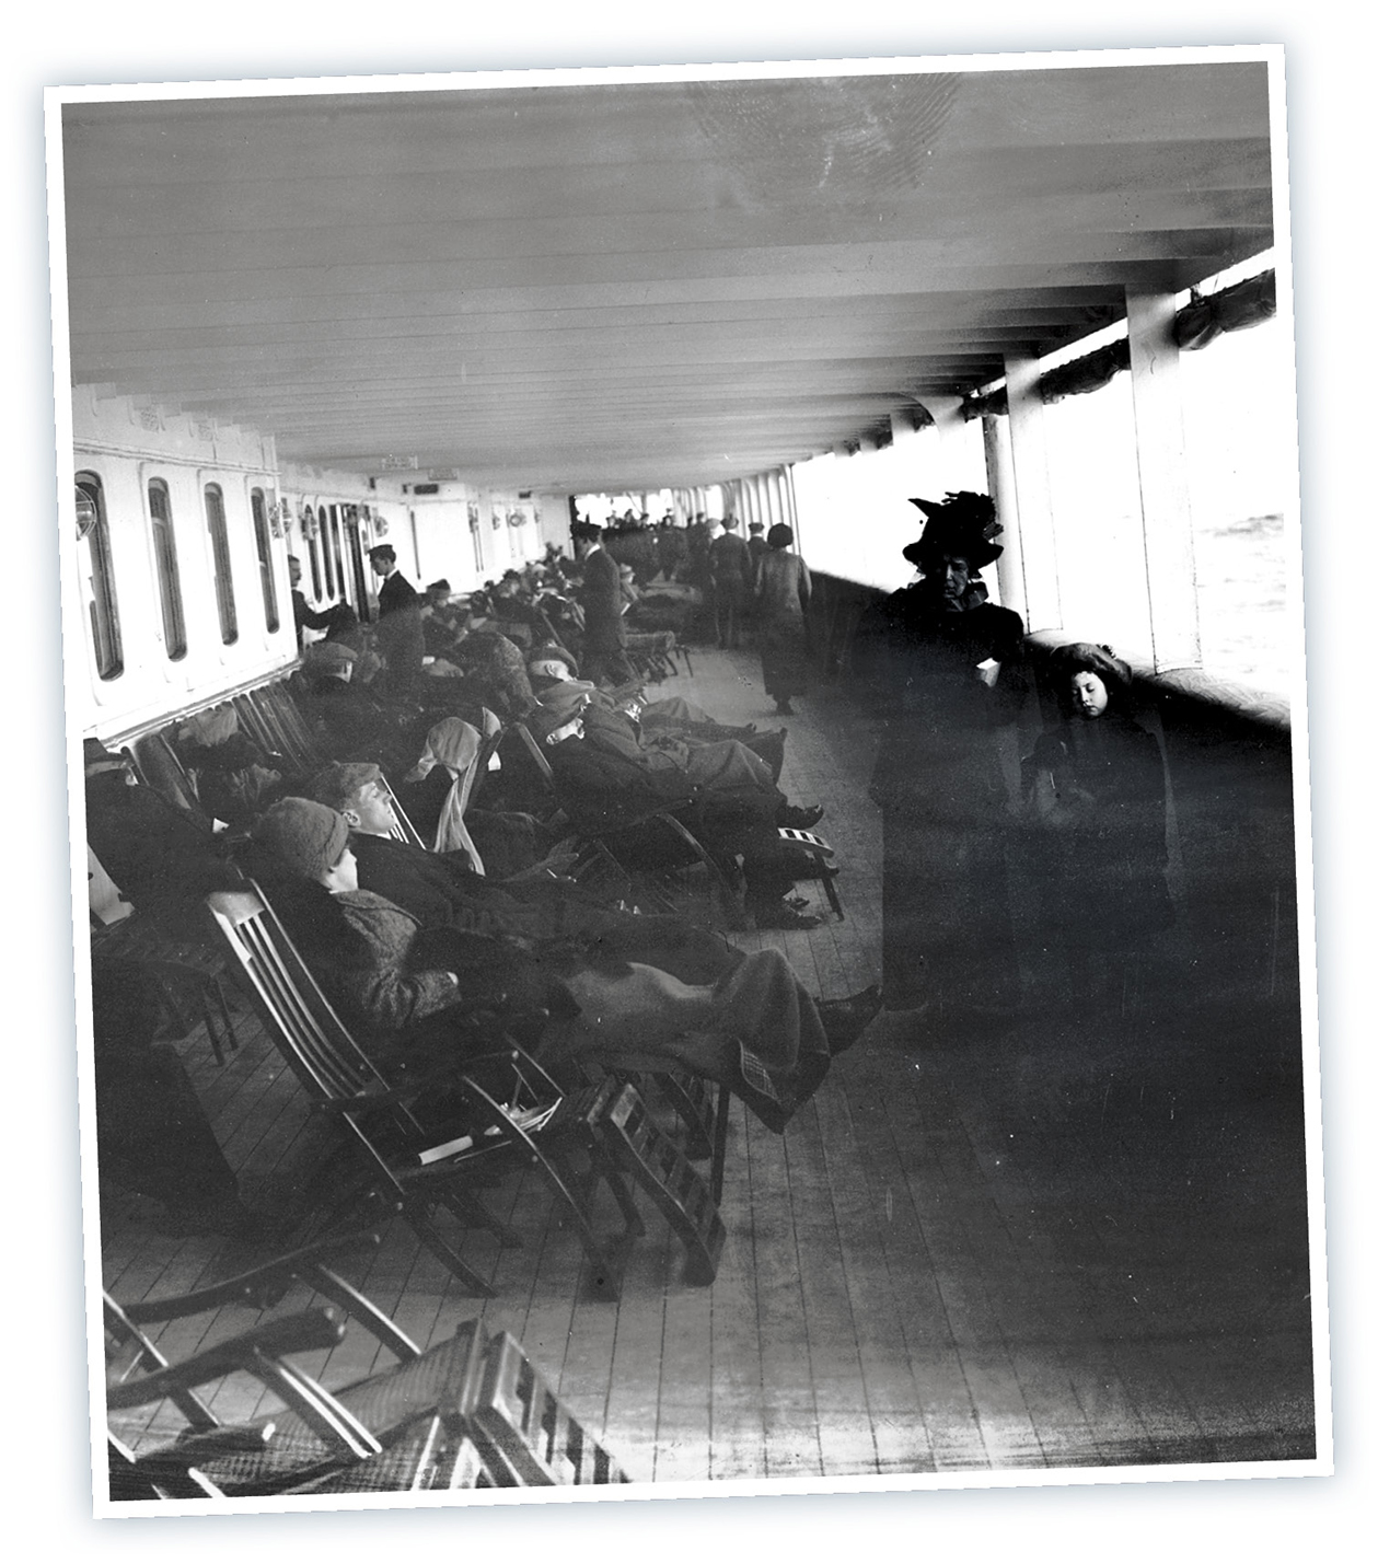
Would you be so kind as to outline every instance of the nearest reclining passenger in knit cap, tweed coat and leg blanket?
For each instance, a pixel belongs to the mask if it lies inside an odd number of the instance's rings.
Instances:
[[[447,1021],[467,994],[434,944],[420,949],[420,924],[359,888],[348,822],[308,799],[283,799],[255,838],[277,863],[278,883],[298,896],[278,907],[322,988],[395,1057],[444,1046]],[[270,892],[272,894],[272,892]],[[277,905],[277,902],[275,902]],[[819,1005],[775,950],[742,955],[714,983],[686,983],[639,961],[566,963],[541,972],[550,1022],[537,1047],[547,1068],[580,1055],[642,1066],[678,1063],[737,1091],[767,1127],[781,1132],[817,1089],[833,1053],[850,1046],[878,1008],[867,989]],[[453,1030],[450,1030],[453,1044]]]

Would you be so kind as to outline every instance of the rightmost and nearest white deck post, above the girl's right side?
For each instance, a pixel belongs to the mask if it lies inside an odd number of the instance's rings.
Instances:
[[[1176,300],[1170,292],[1126,292],[1125,311],[1130,320],[1130,381],[1153,666],[1158,672],[1200,667],[1201,625],[1181,414],[1181,355],[1172,334]]]

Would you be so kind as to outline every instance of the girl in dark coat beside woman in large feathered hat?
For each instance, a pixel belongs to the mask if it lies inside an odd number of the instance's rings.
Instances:
[[[1058,647],[1051,669],[1062,721],[1025,763],[1044,914],[1073,958],[1128,953],[1173,921],[1162,753],[1108,646]]]

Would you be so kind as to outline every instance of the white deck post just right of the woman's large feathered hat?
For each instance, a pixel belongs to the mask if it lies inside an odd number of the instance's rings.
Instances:
[[[1044,403],[1037,392],[1037,358],[1005,355],[1005,392],[1009,400],[1009,477],[997,503],[1009,549],[1009,531],[1019,533],[1019,561],[1023,577],[1025,630],[1062,628],[1062,596],[1058,586],[1058,528],[1053,522],[1053,494],[1048,483],[1048,447],[1044,433]],[[1014,500],[1011,505],[1009,500]],[[1011,528],[1011,520],[1014,527]],[[1001,588],[1005,577],[1001,575]],[[1009,602],[1009,599],[1006,599]]]

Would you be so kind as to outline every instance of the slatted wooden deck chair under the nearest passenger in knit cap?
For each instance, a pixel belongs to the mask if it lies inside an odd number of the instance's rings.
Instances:
[[[208,905],[267,1035],[317,1108],[353,1136],[375,1189],[452,1274],[477,1296],[495,1296],[441,1233],[437,1210],[512,1238],[484,1208],[475,1183],[530,1166],[564,1207],[584,1247],[592,1293],[617,1297],[627,1249],[644,1227],[631,1191],[595,1136],[592,1119],[606,1107],[595,1093],[564,1096],[512,1044],[486,1057],[466,1057],[462,1068],[444,1064],[430,1075],[408,1071],[394,1083],[341,1022],[258,885],[212,894]],[[481,1069],[491,1072],[495,1064],[502,1089],[480,1078]],[[589,1161],[578,1185],[569,1163],[572,1152],[583,1152]],[[625,1230],[609,1241],[597,1236],[587,1214],[600,1179],[625,1222]]]

